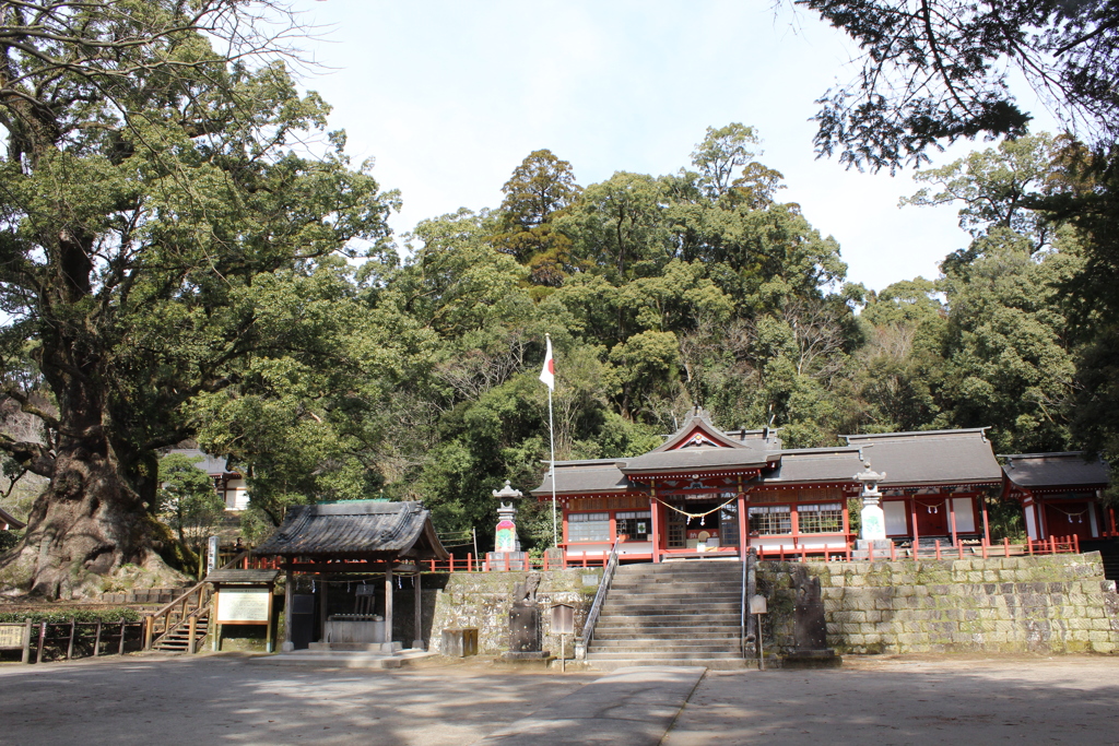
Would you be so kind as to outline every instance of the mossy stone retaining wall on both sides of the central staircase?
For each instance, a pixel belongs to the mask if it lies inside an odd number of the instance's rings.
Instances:
[[[768,650],[792,645],[791,580],[799,565],[759,563],[759,589],[769,597],[763,623]],[[1099,553],[805,567],[820,579],[828,644],[840,653],[1119,652],[1119,595],[1115,583],[1103,578]],[[596,582],[601,573],[539,574],[545,650],[560,651],[547,608],[560,602],[575,606],[581,633],[596,591],[584,577]],[[514,586],[526,576],[454,573],[442,576],[441,589],[425,588],[425,606],[427,593],[434,595],[431,626],[424,631],[430,650],[440,649],[442,630],[458,626],[478,627],[480,652],[508,650]]]

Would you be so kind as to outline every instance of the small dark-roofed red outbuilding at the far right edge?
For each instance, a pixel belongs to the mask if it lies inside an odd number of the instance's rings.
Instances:
[[[1082,452],[1004,456],[1003,495],[1018,500],[1031,539],[1076,536],[1081,541],[1116,537],[1116,509],[1100,500],[1111,473]]]

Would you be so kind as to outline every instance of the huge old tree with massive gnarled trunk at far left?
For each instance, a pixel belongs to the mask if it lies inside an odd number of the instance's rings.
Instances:
[[[158,450],[198,429],[198,397],[313,343],[278,283],[387,235],[392,197],[340,133],[316,140],[326,105],[256,32],[279,10],[0,2],[2,395],[43,423],[0,452],[49,480],[0,592],[88,594],[123,566],[157,582],[177,550]]]

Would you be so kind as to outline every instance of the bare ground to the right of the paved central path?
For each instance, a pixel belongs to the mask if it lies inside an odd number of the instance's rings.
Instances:
[[[1119,744],[1119,658],[709,671],[662,746]]]

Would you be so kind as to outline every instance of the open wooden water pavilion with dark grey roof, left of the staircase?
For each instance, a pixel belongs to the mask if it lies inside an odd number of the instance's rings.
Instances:
[[[382,618],[372,614],[346,615],[341,626],[348,636],[364,639],[360,631],[354,631],[354,623],[367,622],[378,627],[377,636],[385,643],[384,650],[393,648],[393,583],[396,575],[415,578],[415,638],[413,646],[422,645],[421,634],[421,585],[420,561],[443,560],[448,553],[435,535],[431,512],[420,502],[387,502],[383,500],[352,500],[299,506],[290,508],[283,523],[255,554],[283,558],[285,573],[284,643],[283,650],[293,649],[292,611],[293,580],[295,574],[313,576],[319,595],[321,642],[326,638],[328,622],[327,594],[331,577],[347,578],[380,576],[384,579],[385,603]],[[366,610],[370,611],[370,610]],[[368,635],[366,635],[368,636]]]

